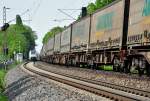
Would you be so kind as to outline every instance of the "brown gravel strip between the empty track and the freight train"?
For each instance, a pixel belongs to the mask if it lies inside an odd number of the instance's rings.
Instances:
[[[59,65],[50,65],[44,62],[36,62],[35,66],[38,65],[40,68],[47,69],[49,71],[57,71],[62,74],[67,73],[74,76],[79,76],[91,80],[103,81],[108,83],[113,83],[121,86],[132,87],[136,89],[150,91],[150,78],[148,77],[139,77],[134,74],[124,74],[112,71],[100,71],[100,70],[91,70],[85,68],[77,68],[77,67],[66,67]]]

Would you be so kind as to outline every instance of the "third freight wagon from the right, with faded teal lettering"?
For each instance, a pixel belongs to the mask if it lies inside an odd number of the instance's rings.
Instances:
[[[72,24],[70,64],[84,66],[87,64],[86,50],[89,45],[91,17],[87,16]]]

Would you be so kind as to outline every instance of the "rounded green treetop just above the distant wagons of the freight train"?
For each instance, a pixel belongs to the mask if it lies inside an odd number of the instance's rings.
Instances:
[[[49,32],[45,34],[43,41],[42,41],[43,44],[47,43],[49,38],[53,37],[55,34],[60,33],[62,31],[63,31],[63,28],[59,26],[52,28]]]

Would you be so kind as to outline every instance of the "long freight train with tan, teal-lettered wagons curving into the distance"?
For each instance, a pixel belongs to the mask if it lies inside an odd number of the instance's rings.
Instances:
[[[42,61],[150,74],[150,0],[116,0],[43,45]]]

